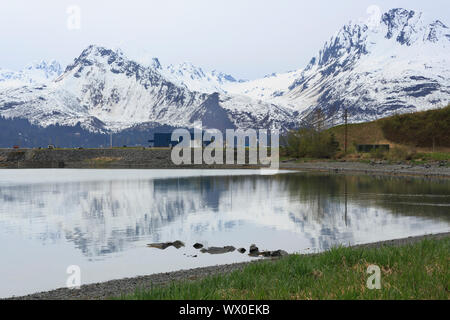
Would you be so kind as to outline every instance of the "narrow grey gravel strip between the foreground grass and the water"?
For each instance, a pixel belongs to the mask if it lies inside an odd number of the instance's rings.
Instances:
[[[440,233],[435,235],[425,235],[417,237],[409,237],[403,239],[395,239],[381,241],[375,243],[361,244],[353,247],[374,248],[380,246],[401,246],[423,239],[441,239],[450,236],[450,233]],[[9,299],[17,300],[93,300],[107,299],[110,297],[118,297],[121,294],[129,294],[135,292],[136,289],[150,289],[154,286],[166,285],[173,281],[182,280],[198,280],[207,276],[216,274],[226,274],[236,270],[241,270],[250,263],[259,263],[261,260],[252,262],[235,263],[228,265],[217,265],[205,268],[196,268],[190,270],[181,270],[168,273],[152,274],[148,276],[139,276],[134,278],[125,278],[120,280],[111,280],[102,283],[83,285],[78,290],[70,290],[67,288],[56,289],[48,292],[35,293],[22,297],[12,297]]]

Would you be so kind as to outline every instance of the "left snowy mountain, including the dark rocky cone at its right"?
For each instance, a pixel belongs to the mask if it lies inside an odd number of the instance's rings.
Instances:
[[[0,92],[0,114],[34,124],[120,131],[143,123],[210,128],[295,127],[294,112],[246,96],[189,90],[121,51],[90,46],[47,85]]]

